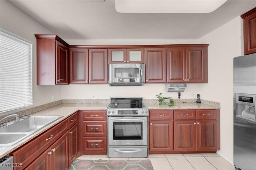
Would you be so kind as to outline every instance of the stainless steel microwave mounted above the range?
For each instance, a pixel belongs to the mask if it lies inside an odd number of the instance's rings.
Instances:
[[[110,86],[143,86],[145,64],[108,64]]]

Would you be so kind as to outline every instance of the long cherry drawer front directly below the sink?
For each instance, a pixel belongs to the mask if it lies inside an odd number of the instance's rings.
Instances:
[[[68,130],[68,119],[65,119],[58,125],[50,128],[43,134],[40,134],[34,140],[28,142],[15,152],[13,152],[14,163],[22,163],[23,168],[28,166],[35,158],[37,158],[44,150],[50,147],[60,136]],[[15,167],[15,170],[23,169]]]

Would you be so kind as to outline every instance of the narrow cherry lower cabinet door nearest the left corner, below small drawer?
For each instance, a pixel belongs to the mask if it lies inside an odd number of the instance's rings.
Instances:
[[[78,130],[77,130],[77,124],[76,124],[68,130],[68,146],[69,146],[68,166],[70,166],[73,160],[76,158],[77,145],[78,145]]]

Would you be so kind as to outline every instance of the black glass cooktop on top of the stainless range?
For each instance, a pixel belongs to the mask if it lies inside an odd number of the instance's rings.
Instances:
[[[111,97],[110,98],[110,109],[122,108],[142,108],[142,97]]]

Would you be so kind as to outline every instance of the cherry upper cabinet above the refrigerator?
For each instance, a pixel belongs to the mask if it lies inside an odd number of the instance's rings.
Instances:
[[[244,19],[244,55],[256,53],[256,8],[241,17]]]

